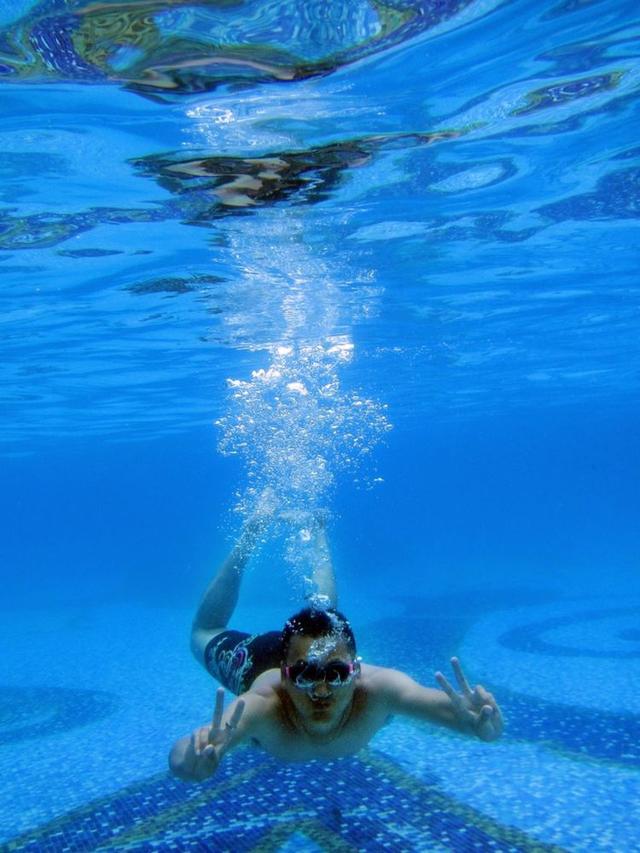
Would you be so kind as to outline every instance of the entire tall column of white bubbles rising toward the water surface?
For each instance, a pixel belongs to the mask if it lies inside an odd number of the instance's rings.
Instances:
[[[250,341],[267,357],[249,376],[227,379],[218,448],[243,461],[242,518],[265,490],[288,514],[285,557],[300,579],[312,562],[313,515],[330,505],[338,474],[365,486],[381,480],[372,451],[391,429],[387,407],[341,381],[355,358],[350,329],[380,291],[370,271],[319,256],[326,223],[309,210],[261,210],[250,240],[242,225],[227,230],[243,296],[226,322],[238,346]]]

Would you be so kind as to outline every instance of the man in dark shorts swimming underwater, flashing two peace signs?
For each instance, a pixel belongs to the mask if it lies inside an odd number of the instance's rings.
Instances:
[[[442,690],[422,687],[393,669],[361,663],[351,626],[335,609],[336,590],[324,524],[313,521],[317,590],[310,607],[282,632],[227,630],[242,573],[265,524],[263,509],[249,521],[207,588],[196,613],[191,647],[205,668],[237,698],[224,711],[219,688],[211,725],[178,740],[169,766],[181,779],[202,781],[223,756],[252,743],[284,761],[334,759],[364,747],[394,714],[447,726],[492,741],[500,709],[480,685],[471,689],[451,659],[460,692],[440,672]]]

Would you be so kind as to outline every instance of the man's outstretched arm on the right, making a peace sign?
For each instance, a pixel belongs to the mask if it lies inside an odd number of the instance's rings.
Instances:
[[[436,690],[423,687],[402,672],[387,670],[385,687],[390,712],[447,726],[484,741],[496,740],[504,728],[498,703],[480,684],[469,686],[457,658],[451,659],[451,665],[459,691],[441,672],[436,673],[436,680],[442,690]]]

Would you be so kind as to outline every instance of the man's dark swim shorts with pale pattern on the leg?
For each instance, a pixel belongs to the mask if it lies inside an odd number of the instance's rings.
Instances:
[[[268,669],[279,669],[282,655],[280,631],[243,634],[221,631],[204,650],[207,671],[236,695],[245,693]]]

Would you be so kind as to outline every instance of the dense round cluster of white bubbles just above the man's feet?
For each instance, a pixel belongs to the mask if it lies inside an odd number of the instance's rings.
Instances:
[[[267,369],[227,380],[230,409],[216,424],[221,453],[245,462],[243,515],[267,487],[279,507],[313,512],[327,501],[336,472],[361,470],[391,428],[384,404],[341,387],[339,371],[353,349],[346,336],[277,345]]]

